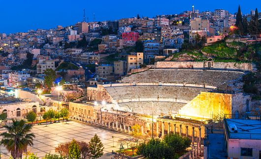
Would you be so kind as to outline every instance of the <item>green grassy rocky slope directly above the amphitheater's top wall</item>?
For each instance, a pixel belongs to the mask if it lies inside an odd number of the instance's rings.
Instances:
[[[172,61],[214,61],[253,62],[260,60],[261,44],[246,45],[241,42],[217,42],[199,50],[183,50],[172,54]]]

